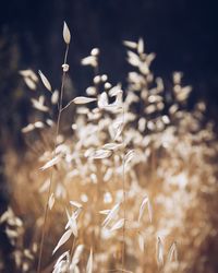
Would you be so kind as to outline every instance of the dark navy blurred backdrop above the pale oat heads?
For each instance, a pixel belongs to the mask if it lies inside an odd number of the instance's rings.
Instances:
[[[64,43],[63,21],[72,33],[69,62],[76,93],[90,83],[90,70],[80,67],[93,47],[101,50],[101,72],[112,83],[123,81],[128,66],[122,40],[142,36],[157,54],[156,75],[168,83],[184,72],[194,87],[192,100],[218,106],[218,15],[216,1],[194,0],[8,0],[0,7],[0,122],[13,136],[26,124],[29,103],[17,71],[43,70],[59,87]]]

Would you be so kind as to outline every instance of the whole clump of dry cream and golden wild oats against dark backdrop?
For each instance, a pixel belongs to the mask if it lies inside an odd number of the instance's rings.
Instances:
[[[131,69],[123,85],[99,72],[94,48],[82,60],[92,86],[65,102],[65,23],[63,40],[60,91],[41,71],[20,71],[36,115],[22,130],[23,162],[5,156],[12,201],[1,223],[16,272],[215,272],[218,144],[205,104],[186,109],[192,87],[182,73],[165,88],[142,38],[123,43]],[[36,91],[39,80],[45,91]]]

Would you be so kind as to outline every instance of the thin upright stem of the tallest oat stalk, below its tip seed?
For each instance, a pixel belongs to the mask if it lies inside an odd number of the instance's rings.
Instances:
[[[63,63],[66,63],[68,52],[69,52],[69,44],[66,44],[65,54],[64,54],[64,62]],[[60,121],[61,121],[61,112],[62,112],[62,105],[63,105],[63,93],[64,93],[65,75],[66,75],[66,71],[63,71],[62,81],[61,81],[61,93],[60,93],[59,108],[58,108],[58,120],[57,120],[57,128],[56,128],[56,138],[55,138],[55,143],[53,143],[53,153],[52,153],[52,155],[56,154],[56,149],[57,149],[57,144],[58,144],[58,134],[59,134],[59,131],[60,131]],[[37,273],[40,273],[40,269],[41,269],[41,257],[43,257],[44,242],[45,242],[45,236],[46,236],[46,224],[47,224],[47,221],[48,221],[48,212],[49,212],[48,202],[49,202],[49,198],[50,198],[50,194],[51,194],[52,180],[53,180],[53,168],[51,168],[51,173],[50,173],[50,182],[49,182],[48,195],[47,195],[47,201],[46,201],[43,232],[41,232],[40,246],[39,246],[39,258],[38,258]]]

